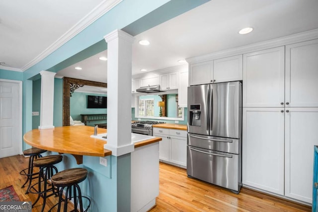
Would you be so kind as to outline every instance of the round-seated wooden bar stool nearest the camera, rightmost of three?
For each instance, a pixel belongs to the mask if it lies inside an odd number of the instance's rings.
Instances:
[[[87,210],[90,207],[90,199],[81,196],[80,188],[79,188],[79,183],[84,181],[87,176],[87,170],[84,168],[72,168],[72,169],[67,169],[64,171],[61,171],[51,178],[52,184],[56,187],[58,187],[59,190],[59,202],[55,205],[58,205],[58,212],[61,211],[61,204],[64,202],[64,212],[67,212],[68,210],[68,200],[74,200],[74,210],[71,212],[78,212],[78,205],[79,205],[79,211],[80,212],[87,212]],[[73,196],[72,196],[72,187],[73,187]],[[63,191],[64,188],[66,188],[65,192],[65,199],[63,199]],[[88,206],[83,210],[83,203],[82,203],[82,198],[85,198],[88,200]],[[49,212],[55,207],[53,206]]]

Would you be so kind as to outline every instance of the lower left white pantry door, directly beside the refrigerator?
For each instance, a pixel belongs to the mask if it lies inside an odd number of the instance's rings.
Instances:
[[[243,108],[242,183],[284,195],[284,110]]]

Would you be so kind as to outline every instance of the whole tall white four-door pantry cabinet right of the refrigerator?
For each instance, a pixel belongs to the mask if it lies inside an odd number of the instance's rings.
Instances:
[[[318,40],[243,55],[242,183],[312,202]]]

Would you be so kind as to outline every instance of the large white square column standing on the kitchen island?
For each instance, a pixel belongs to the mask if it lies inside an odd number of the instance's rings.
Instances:
[[[134,151],[131,143],[132,43],[135,38],[122,30],[104,36],[107,42],[107,144],[120,156]]]

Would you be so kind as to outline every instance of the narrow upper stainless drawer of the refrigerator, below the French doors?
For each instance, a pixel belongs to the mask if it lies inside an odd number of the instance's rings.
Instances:
[[[233,154],[239,154],[241,149],[239,139],[220,138],[188,133],[187,141],[189,146],[229,152]]]

